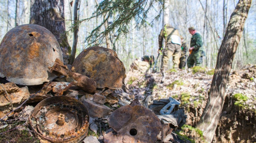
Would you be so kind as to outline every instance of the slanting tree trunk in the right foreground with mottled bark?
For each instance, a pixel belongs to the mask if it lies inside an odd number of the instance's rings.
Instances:
[[[211,90],[201,119],[196,126],[211,143],[226,97],[226,84],[232,62],[239,44],[251,0],[239,0],[229,20],[225,37],[218,50],[217,64],[212,78]]]

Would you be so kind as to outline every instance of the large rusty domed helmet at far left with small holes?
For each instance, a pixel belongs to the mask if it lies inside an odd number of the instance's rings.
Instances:
[[[24,24],[9,30],[0,44],[0,77],[21,85],[38,85],[56,75],[48,72],[55,59],[61,61],[60,45],[46,28]]]

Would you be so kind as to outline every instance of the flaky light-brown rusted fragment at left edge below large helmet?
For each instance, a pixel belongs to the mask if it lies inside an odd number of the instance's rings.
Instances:
[[[27,98],[30,97],[30,93],[27,86],[18,88],[13,83],[6,83],[2,85],[5,87],[5,90],[7,90],[14,108],[21,105],[23,101],[25,101]],[[8,89],[8,87],[10,89]],[[1,88],[2,87],[0,86],[0,89]],[[10,109],[11,109],[11,104],[10,104],[9,98],[7,94],[3,92],[0,94],[0,110],[6,113],[10,111]]]

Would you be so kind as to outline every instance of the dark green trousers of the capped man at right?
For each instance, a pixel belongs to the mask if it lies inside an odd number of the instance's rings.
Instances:
[[[203,58],[201,57],[201,53],[202,51],[196,51],[196,52],[192,52],[189,56],[188,56],[188,68],[192,68],[194,65],[195,66],[202,66],[203,63]]]

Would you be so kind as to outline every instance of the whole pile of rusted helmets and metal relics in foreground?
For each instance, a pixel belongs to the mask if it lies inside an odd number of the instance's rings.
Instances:
[[[62,59],[60,45],[44,27],[25,24],[8,31],[0,44],[1,125],[24,105],[38,102],[27,117],[30,128],[52,143],[79,143],[89,127],[99,130],[105,143],[168,143],[172,130],[185,123],[175,99],[148,97],[143,105],[137,100],[127,105],[113,96],[126,76],[113,50],[87,48],[71,69]],[[166,104],[170,112],[167,107],[159,112]],[[182,118],[173,114],[174,107]]]

